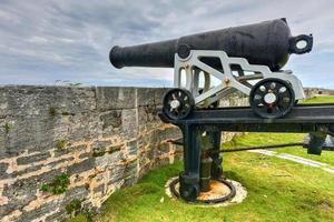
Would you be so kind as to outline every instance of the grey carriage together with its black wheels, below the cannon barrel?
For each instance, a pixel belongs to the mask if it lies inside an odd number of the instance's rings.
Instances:
[[[253,104],[252,108],[254,108],[255,112],[261,117],[281,118],[292,109],[296,101],[305,99],[302,82],[296,75],[292,73],[292,71],[281,70],[273,72],[266,65],[249,64],[245,58],[228,57],[224,51],[189,50],[189,52],[186,54],[187,57],[185,58],[183,58],[183,56],[179,53],[175,54],[174,87],[185,89],[190,92],[195,101],[193,107],[209,107],[220,99],[224,99],[225,97],[228,97],[229,94],[238,91],[249,97],[249,103]],[[205,59],[218,60],[220,62],[220,69],[218,70],[205,63]],[[237,70],[233,69],[233,67],[237,67]],[[203,88],[199,88],[200,73],[204,74]],[[185,85],[181,84],[183,74],[185,74],[186,77]],[[210,84],[210,75],[214,75],[222,83],[213,87]],[[288,104],[284,107],[284,110],[278,110],[278,112],[275,114],[263,112],[261,111],[261,109],[259,111],[256,110],[254,101],[258,100],[258,98],[256,98],[256,95],[258,97],[258,94],[255,93],[256,90],[254,90],[254,87],[261,87],[259,84],[253,83],[256,80],[264,80],[263,82],[265,82],[266,80],[272,80],[272,82],[275,82],[275,84],[282,84],[282,88],[279,89],[291,91],[291,94],[288,97],[283,98],[288,99],[288,101],[286,102]],[[262,100],[261,105],[272,105],[277,109],[279,107],[282,109],[283,105],[278,105],[279,89],[266,89],[268,91],[272,91],[272,93],[263,93],[263,98],[259,98]],[[188,97],[190,97],[189,93],[187,94]],[[272,98],[269,98],[268,95],[272,95]],[[166,97],[168,97],[168,93]],[[174,95],[174,100],[177,100],[176,97],[177,95]],[[273,101],[267,102],[266,97],[267,99],[272,99]],[[167,112],[167,115],[168,112],[174,112],[175,114],[173,115],[170,113],[169,117],[171,117],[173,119],[180,118],[179,113],[181,112],[181,110],[177,109],[181,107],[181,104],[179,103],[181,101],[178,101],[178,105],[173,108],[169,105],[171,101],[167,101],[166,99],[164,99],[164,107],[166,108],[164,110]],[[185,108],[185,105],[183,105],[183,108]],[[181,118],[185,117],[185,114],[181,114]]]

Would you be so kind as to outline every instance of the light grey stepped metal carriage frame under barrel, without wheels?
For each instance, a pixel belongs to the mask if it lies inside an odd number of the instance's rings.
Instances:
[[[203,59],[216,58],[222,63],[222,70],[217,70],[205,63]],[[213,103],[233,92],[240,91],[249,95],[255,84],[254,80],[277,78],[292,84],[295,99],[305,98],[302,82],[291,71],[272,72],[266,65],[249,64],[244,58],[228,57],[224,51],[191,50],[185,59],[175,54],[174,87],[189,90],[198,107],[204,101]],[[233,69],[232,67],[238,67]],[[203,93],[199,93],[199,75],[204,73]],[[181,84],[181,75],[186,75],[185,85]],[[210,75],[222,81],[218,85],[212,85]]]

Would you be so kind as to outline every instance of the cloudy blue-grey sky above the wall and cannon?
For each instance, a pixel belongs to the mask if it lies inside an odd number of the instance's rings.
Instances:
[[[304,87],[334,89],[331,0],[0,0],[0,84],[171,87],[173,69],[115,69],[112,46],[287,18],[314,36],[311,53],[284,69]]]

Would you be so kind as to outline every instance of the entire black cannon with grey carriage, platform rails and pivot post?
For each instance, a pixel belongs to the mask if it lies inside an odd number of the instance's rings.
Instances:
[[[220,152],[302,144],[308,153],[321,154],[326,135],[334,135],[334,104],[297,104],[305,97],[302,82],[282,69],[292,53],[307,53],[312,47],[312,34],[293,37],[286,20],[276,19],[163,42],[114,47],[109,59],[118,69],[174,68],[174,89],[164,95],[159,117],[183,132],[181,139],[171,142],[184,147],[184,171],[169,186],[189,202],[203,202],[198,195],[209,192],[213,180],[230,189],[225,196],[204,201],[207,203],[235,194],[233,184],[224,180]],[[248,95],[249,107],[219,107],[219,100],[234,92]],[[222,131],[308,132],[311,137],[307,144],[220,150]]]

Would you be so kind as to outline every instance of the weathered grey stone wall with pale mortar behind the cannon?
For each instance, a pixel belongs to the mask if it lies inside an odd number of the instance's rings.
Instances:
[[[167,142],[180,131],[157,117],[165,91],[1,87],[1,221],[55,221],[73,200],[99,208],[154,167],[180,159],[181,147]],[[247,103],[236,93],[220,104]],[[69,181],[60,192],[61,178]]]

